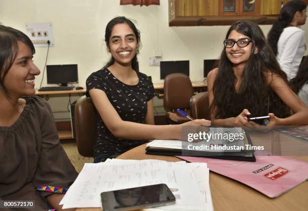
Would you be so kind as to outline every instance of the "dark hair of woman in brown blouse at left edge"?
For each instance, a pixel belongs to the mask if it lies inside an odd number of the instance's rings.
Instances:
[[[26,44],[31,49],[32,55],[35,54],[35,48],[27,35],[17,29],[0,25],[0,86],[7,96],[9,92],[4,81],[16,59],[18,41]]]

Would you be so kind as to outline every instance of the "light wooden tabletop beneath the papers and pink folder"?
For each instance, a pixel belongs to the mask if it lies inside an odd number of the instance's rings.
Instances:
[[[308,161],[308,156],[291,157]],[[181,160],[174,156],[146,155],[145,144],[127,151],[118,158],[135,160],[158,159],[166,161]],[[209,181],[214,210],[307,210],[308,207],[307,181],[277,198],[269,198],[247,185],[211,171]],[[101,208],[78,208],[76,210],[98,211]]]

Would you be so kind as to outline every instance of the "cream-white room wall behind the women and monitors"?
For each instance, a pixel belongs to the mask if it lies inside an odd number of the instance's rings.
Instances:
[[[160,6],[120,6],[119,0],[0,0],[0,22],[26,31],[26,24],[52,23],[54,47],[49,50],[47,64],[78,64],[79,84],[85,87],[87,77],[100,69],[109,59],[104,43],[105,27],[116,16],[136,20],[141,32],[142,48],[138,56],[140,71],[160,80],[160,68],[149,66],[148,59],[155,51],[162,52],[163,60],[190,60],[190,78],[203,78],[203,59],[218,58],[222,41],[229,26],[169,27],[168,1]],[[308,22],[308,21],[307,21]],[[261,25],[265,34],[270,25]],[[308,23],[301,27],[308,31]],[[308,43],[308,34],[306,34]],[[36,48],[34,60],[43,70],[47,48]],[[308,53],[306,50],[305,55]],[[46,74],[46,73],[45,73]],[[36,77],[39,87],[42,74]],[[43,86],[46,85],[44,76]],[[78,98],[74,96],[73,99]],[[54,112],[65,112],[68,97],[51,97]],[[156,99],[156,105],[162,101]],[[63,113],[55,118],[66,118]]]

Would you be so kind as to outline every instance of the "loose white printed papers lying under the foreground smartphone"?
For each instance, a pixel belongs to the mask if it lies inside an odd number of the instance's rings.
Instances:
[[[213,210],[206,163],[120,160],[86,163],[60,204],[63,208],[101,207],[101,192],[165,183],[176,203],[152,210]]]

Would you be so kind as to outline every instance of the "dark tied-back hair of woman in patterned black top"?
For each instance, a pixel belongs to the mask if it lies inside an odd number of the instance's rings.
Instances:
[[[136,28],[136,26],[133,24],[133,22],[131,20],[129,20],[128,18],[124,17],[124,16],[119,16],[119,17],[116,17],[114,19],[112,19],[111,21],[109,21],[109,23],[107,24],[106,26],[106,31],[105,31],[105,42],[106,42],[106,45],[107,45],[107,48],[109,49],[109,39],[110,39],[110,36],[111,36],[111,33],[112,33],[112,29],[115,25],[117,24],[123,24],[123,23],[126,23],[128,24],[128,26],[131,28],[131,30],[134,32],[135,36],[136,36],[136,39],[137,39],[137,43],[139,45],[139,48],[141,46],[141,41],[140,41],[140,31]],[[137,49],[137,53],[136,55],[134,56],[134,58],[132,59],[131,61],[131,67],[137,71],[138,70],[138,59],[137,59],[137,54],[139,53],[139,48]],[[114,63],[114,58],[112,57],[111,55],[111,58],[110,60],[108,61],[108,63],[104,66],[104,67],[109,67],[111,66],[112,64]]]

